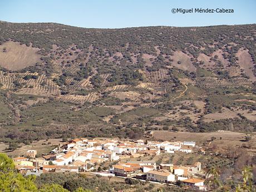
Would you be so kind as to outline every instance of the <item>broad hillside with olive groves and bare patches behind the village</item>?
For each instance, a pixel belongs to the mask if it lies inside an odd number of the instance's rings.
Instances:
[[[0,22],[1,140],[256,131],[255,34]]]

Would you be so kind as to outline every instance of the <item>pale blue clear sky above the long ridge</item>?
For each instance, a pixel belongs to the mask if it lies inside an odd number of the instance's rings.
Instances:
[[[174,8],[193,8],[193,13],[172,13]],[[195,8],[233,9],[234,13],[195,13]],[[0,20],[86,28],[213,26],[256,23],[255,8],[255,0],[0,0]]]

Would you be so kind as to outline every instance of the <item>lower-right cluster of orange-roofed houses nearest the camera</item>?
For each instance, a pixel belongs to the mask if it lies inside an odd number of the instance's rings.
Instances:
[[[154,161],[133,161],[119,163],[113,166],[110,173],[116,176],[136,176],[137,179],[157,181],[161,183],[175,183],[180,180],[185,185],[196,189],[204,188],[204,179],[195,178],[201,172],[201,163],[194,165],[175,166],[173,164],[160,164],[156,166]]]

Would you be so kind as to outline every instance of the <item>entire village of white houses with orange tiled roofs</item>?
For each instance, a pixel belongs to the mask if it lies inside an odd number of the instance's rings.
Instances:
[[[182,181],[190,188],[205,190],[205,173],[201,163],[193,165],[157,164],[154,160],[129,161],[129,157],[193,153],[204,150],[193,141],[120,141],[117,139],[72,139],[59,144],[49,154],[38,157],[36,150],[28,150],[23,156],[14,157],[17,170],[24,175],[42,173],[86,173],[111,177],[140,179],[170,185]],[[128,160],[127,160],[128,157]],[[109,163],[109,167],[100,165]]]

